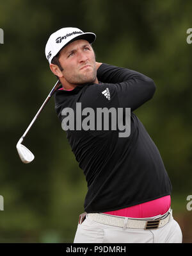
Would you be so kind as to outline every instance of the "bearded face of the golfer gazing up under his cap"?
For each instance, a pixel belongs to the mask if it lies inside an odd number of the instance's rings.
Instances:
[[[59,58],[63,78],[70,85],[95,83],[97,69],[95,53],[86,40],[76,40],[61,50]]]

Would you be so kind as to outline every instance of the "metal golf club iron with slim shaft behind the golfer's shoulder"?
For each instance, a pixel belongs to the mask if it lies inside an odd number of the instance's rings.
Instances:
[[[49,101],[49,99],[51,98],[52,94],[54,94],[54,92],[58,89],[59,86],[60,86],[60,80],[58,80],[56,82],[56,84],[52,88],[51,92],[49,93],[49,95],[45,99],[44,103],[42,104],[42,107],[40,107],[40,109],[36,113],[35,117],[31,121],[31,123],[29,124],[28,128],[26,129],[26,131],[23,133],[22,137],[20,137],[19,141],[17,142],[16,148],[17,148],[17,151],[19,153],[19,157],[22,160],[22,162],[24,162],[24,164],[28,164],[28,163],[32,162],[33,159],[35,158],[33,153],[28,148],[26,148],[26,146],[22,145],[24,137],[26,137],[27,133],[31,129],[31,126],[35,123],[36,118],[38,117],[40,112],[42,112],[42,110],[45,107],[46,103]]]

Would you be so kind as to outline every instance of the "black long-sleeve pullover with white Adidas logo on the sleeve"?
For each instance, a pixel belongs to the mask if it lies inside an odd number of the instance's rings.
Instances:
[[[67,139],[83,169],[88,192],[86,212],[107,212],[155,200],[171,193],[172,185],[159,151],[133,113],[154,95],[156,86],[147,76],[108,64],[97,70],[99,84],[58,90],[55,107],[61,122],[63,108],[76,103],[84,108],[131,108],[131,134],[119,130],[67,130]],[[106,92],[102,93],[102,92]],[[125,115],[125,112],[124,112]]]

